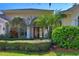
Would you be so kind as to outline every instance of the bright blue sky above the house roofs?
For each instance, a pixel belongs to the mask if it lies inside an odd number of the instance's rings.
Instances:
[[[71,3],[52,3],[49,8],[48,3],[0,3],[0,10],[8,9],[50,9],[50,10],[66,10],[72,7]]]

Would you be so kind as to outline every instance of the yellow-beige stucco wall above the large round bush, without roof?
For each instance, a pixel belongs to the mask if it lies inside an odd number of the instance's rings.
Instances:
[[[78,25],[78,16],[79,16],[79,8],[75,8],[71,11],[68,11],[65,13],[67,15],[66,18],[62,19],[63,25],[72,25],[77,26]]]

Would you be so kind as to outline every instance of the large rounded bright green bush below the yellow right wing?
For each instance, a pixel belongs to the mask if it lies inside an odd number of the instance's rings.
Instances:
[[[62,48],[79,49],[79,27],[57,27],[52,31],[52,42]]]

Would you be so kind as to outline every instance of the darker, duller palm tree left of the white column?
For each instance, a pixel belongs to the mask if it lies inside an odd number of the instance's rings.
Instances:
[[[20,34],[21,34],[20,29],[26,27],[24,20],[20,17],[14,17],[14,19],[12,19],[9,22],[9,24],[10,24],[11,30],[14,31],[13,32],[14,34],[17,35],[16,32],[18,32],[18,37],[20,37]]]

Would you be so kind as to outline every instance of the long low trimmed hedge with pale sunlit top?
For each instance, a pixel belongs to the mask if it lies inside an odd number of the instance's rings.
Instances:
[[[50,40],[0,40],[1,50],[25,50],[27,52],[39,52],[49,50]]]

